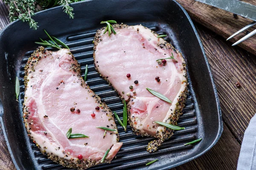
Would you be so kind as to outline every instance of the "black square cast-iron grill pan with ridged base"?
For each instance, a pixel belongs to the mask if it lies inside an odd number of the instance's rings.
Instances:
[[[112,111],[122,117],[122,102],[108,83],[99,77],[93,65],[93,37],[101,28],[100,21],[116,20],[128,25],[142,24],[165,37],[185,57],[189,92],[178,125],[186,130],[175,131],[157,152],[145,148],[153,138],[136,136],[130,126],[125,131],[116,121],[123,146],[111,164],[101,164],[90,170],[170,169],[201,156],[220,138],[223,127],[217,91],[212,79],[203,45],[186,11],[175,0],[87,0],[71,5],[75,18],[69,19],[62,7],[38,12],[34,17],[39,28],[29,29],[26,23],[15,21],[0,34],[0,121],[17,170],[67,169],[47,159],[28,138],[22,118],[24,97],[24,66],[37,48],[38,37],[50,35],[64,41],[81,64],[84,73],[88,65],[87,84],[105,99]],[[50,49],[50,48],[49,48]],[[51,50],[51,49],[50,49]],[[19,102],[15,98],[15,77],[20,80]],[[84,75],[83,75],[84,76]],[[192,146],[186,142],[203,140]],[[154,159],[159,161],[145,166]]]

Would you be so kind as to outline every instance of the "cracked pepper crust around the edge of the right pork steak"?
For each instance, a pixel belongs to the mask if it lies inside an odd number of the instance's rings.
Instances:
[[[128,27],[128,25],[123,24],[123,23],[122,23],[122,24],[114,24],[114,25],[112,25],[112,26],[113,26],[113,28],[116,28],[116,29],[122,29],[122,28],[127,28],[127,27]],[[144,28],[149,29],[149,28],[147,28],[147,27],[144,27]],[[94,41],[93,41],[93,43],[94,43],[94,47],[93,47],[94,66],[95,66],[96,71],[97,71],[99,74],[100,74],[100,72],[99,72],[99,70],[97,69],[96,64],[95,64],[95,62],[96,62],[96,61],[95,61],[95,51],[96,51],[96,49],[97,49],[98,43],[102,41],[102,32],[103,32],[105,29],[106,29],[106,27],[103,27],[103,28],[99,29],[99,30],[96,32],[96,35],[95,35]],[[140,30],[137,29],[137,31],[139,32]],[[152,32],[156,37],[158,36],[156,32],[154,32],[154,31],[152,31],[152,30],[151,30],[151,32]],[[173,50],[176,54],[179,54],[182,58],[184,58],[183,55],[182,55],[178,50],[176,50],[169,42],[166,42],[165,40],[161,41],[161,43],[159,42],[158,47],[160,47],[160,48],[162,48],[162,49],[166,49],[166,50],[171,49],[171,50]],[[176,103],[176,108],[175,108],[175,110],[173,111],[173,113],[169,116],[169,118],[166,120],[166,121],[170,120],[170,124],[172,124],[172,125],[177,125],[177,120],[179,119],[180,115],[182,114],[182,109],[183,109],[184,106],[185,106],[186,96],[187,96],[187,91],[188,91],[188,89],[187,89],[188,82],[187,82],[187,73],[186,73],[186,63],[183,62],[182,65],[183,65],[183,71],[184,71],[184,73],[185,73],[184,77],[186,78],[186,81],[181,82],[181,83],[182,83],[182,84],[183,84],[183,83],[186,83],[186,88],[184,89],[184,91],[181,91],[181,92],[180,92],[180,95],[179,95],[179,97],[178,97],[178,99],[177,99],[178,102]],[[109,80],[108,80],[107,77],[102,76],[102,74],[100,74],[100,76],[101,76],[103,79],[105,79],[105,80],[109,83],[109,85],[111,85],[111,82],[109,82]],[[116,91],[116,89],[115,89],[115,91]],[[116,91],[116,92],[119,94],[120,98],[123,99],[122,95],[121,95],[118,91]],[[131,129],[134,131],[134,134],[136,134],[136,135],[141,135],[141,136],[143,136],[143,137],[144,137],[144,136],[150,136],[150,135],[148,135],[147,133],[141,132],[140,130],[138,130],[138,129],[136,129],[136,128],[134,127],[134,123],[132,122],[132,119],[131,119],[131,116],[130,116],[130,115],[131,115],[131,113],[130,113],[131,105],[129,104],[129,100],[130,100],[130,99],[131,99],[131,97],[129,97],[129,99],[128,99],[127,111],[128,111],[128,122],[129,122],[129,124],[130,124],[130,126],[131,126]],[[123,100],[122,100],[122,101],[123,101]],[[158,140],[154,140],[154,141],[149,142],[149,143],[148,143],[148,147],[147,147],[147,151],[150,152],[150,153],[156,151],[157,148],[160,146],[161,143],[163,143],[164,140],[169,139],[169,138],[173,135],[173,132],[174,132],[174,130],[169,129],[169,128],[167,128],[167,127],[164,127],[164,130],[161,131],[161,132],[157,131],[156,136],[152,136],[152,137],[155,137],[155,138],[157,138]]]

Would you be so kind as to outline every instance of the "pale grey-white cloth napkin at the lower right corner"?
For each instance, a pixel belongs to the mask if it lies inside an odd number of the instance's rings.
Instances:
[[[237,170],[256,170],[256,115],[244,132]]]

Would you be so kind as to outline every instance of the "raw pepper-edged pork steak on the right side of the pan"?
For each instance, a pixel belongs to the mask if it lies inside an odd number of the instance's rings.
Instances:
[[[94,38],[96,70],[113,85],[128,103],[128,120],[136,134],[154,136],[148,151],[169,139],[173,130],[154,121],[177,124],[184,107],[187,91],[186,65],[182,55],[168,42],[157,38],[150,29],[137,25],[113,25],[116,34],[104,34],[105,28]],[[157,59],[168,58],[162,63]],[[163,94],[172,103],[152,95],[146,88]]]

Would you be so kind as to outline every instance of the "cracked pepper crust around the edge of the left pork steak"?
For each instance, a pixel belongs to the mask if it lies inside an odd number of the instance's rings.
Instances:
[[[69,52],[68,54],[72,55],[72,59],[74,61],[76,61],[75,57],[73,56],[73,54],[71,52]],[[31,54],[31,57],[29,57],[26,66],[24,68],[25,70],[25,76],[24,76],[24,84],[25,84],[25,92],[26,89],[29,88],[27,87],[27,83],[29,82],[29,74],[32,73],[32,71],[35,71],[34,66],[41,60],[44,59],[45,57],[48,57],[52,55],[52,51],[48,51],[46,50],[43,46],[38,47],[33,54]],[[79,65],[78,62],[76,63],[72,63],[70,65],[70,70],[74,71],[77,73],[77,77],[79,78],[79,80],[81,81],[81,86],[86,88],[88,90],[88,93],[91,94],[91,97],[93,97],[94,99],[96,99],[96,102],[99,104],[100,108],[102,109],[103,112],[107,112],[109,111],[109,113],[111,113],[110,115],[108,113],[109,116],[109,121],[114,119],[113,118],[113,113],[112,111],[108,108],[108,106],[104,103],[101,102],[101,98],[94,94],[94,92],[90,89],[90,87],[84,82],[84,79],[81,77],[81,67]],[[24,99],[24,101],[26,100],[26,98]],[[37,144],[37,142],[33,139],[33,136],[31,136],[31,132],[30,132],[30,127],[32,124],[27,122],[27,119],[29,118],[29,109],[28,107],[25,105],[25,102],[23,103],[23,122],[25,124],[27,133],[29,138],[36,144],[36,146],[40,149],[41,153],[43,153],[44,155],[46,155],[49,159],[51,159],[52,161],[61,164],[64,167],[68,167],[68,168],[74,168],[74,169],[78,169],[78,170],[84,170],[87,169],[89,167],[92,167],[96,164],[102,164],[100,161],[95,161],[92,159],[82,159],[79,160],[77,158],[70,158],[70,156],[68,156],[68,154],[63,154],[63,157],[59,157],[54,155],[54,153],[47,153],[47,151],[45,149],[47,149],[47,147],[41,147],[39,144]],[[47,118],[48,116],[45,115],[44,118]],[[112,125],[112,124],[111,124]],[[117,131],[117,127],[114,124],[113,128],[116,129],[116,140],[117,142],[119,141],[119,134]],[[45,133],[47,134],[47,133]],[[70,159],[66,159],[65,157],[69,157]],[[109,159],[105,159],[103,163],[110,163],[111,160]]]

